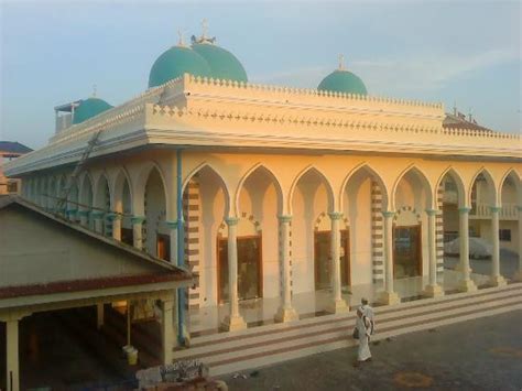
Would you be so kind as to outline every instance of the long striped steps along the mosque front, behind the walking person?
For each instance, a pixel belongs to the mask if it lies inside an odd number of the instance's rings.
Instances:
[[[374,308],[373,340],[522,308],[522,284]],[[355,345],[354,312],[193,339],[176,359],[200,359],[213,376]]]

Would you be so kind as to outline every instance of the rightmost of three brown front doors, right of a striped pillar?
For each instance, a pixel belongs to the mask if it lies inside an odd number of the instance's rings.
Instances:
[[[393,229],[393,275],[395,279],[422,275],[420,225]]]

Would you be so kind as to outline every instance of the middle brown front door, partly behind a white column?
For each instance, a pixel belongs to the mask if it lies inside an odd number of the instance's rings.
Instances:
[[[315,290],[325,290],[331,286],[331,233],[316,231],[314,236]],[[340,231],[340,281],[342,285],[350,284],[350,246],[347,229]]]

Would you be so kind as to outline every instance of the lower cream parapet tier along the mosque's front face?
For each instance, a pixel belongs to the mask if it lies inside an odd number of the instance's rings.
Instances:
[[[229,145],[237,144],[240,138],[242,145],[252,140],[259,143],[258,146],[270,146],[270,143],[273,148],[360,149],[520,158],[521,138],[518,134],[467,129],[447,130],[442,128],[442,122],[432,126],[431,122],[418,124],[415,121],[403,121],[402,118],[390,118],[388,121],[365,120],[363,117],[347,116],[342,112],[312,110],[258,112],[186,107],[180,109],[161,105],[148,105],[146,112],[149,129],[183,129],[185,143],[191,143],[192,140],[197,144],[197,137],[211,135],[214,142],[218,143],[221,138],[222,144],[228,142]],[[191,134],[193,130],[194,138]],[[298,145],[300,143],[305,145]]]

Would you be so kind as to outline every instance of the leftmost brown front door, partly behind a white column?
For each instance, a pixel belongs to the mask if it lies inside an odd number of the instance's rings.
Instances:
[[[238,238],[239,300],[262,296],[261,243],[261,236]],[[228,241],[227,239],[218,239],[218,302],[228,301]]]

